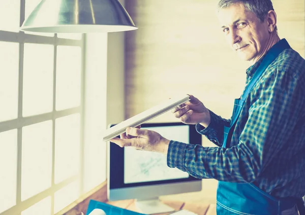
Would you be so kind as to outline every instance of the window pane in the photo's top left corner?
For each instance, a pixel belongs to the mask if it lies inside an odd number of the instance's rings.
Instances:
[[[0,30],[19,32],[20,0],[0,1]]]

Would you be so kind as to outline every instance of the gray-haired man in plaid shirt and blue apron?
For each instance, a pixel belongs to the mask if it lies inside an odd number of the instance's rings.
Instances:
[[[127,128],[111,141],[167,155],[169,167],[219,181],[218,214],[298,214],[305,195],[305,60],[277,33],[270,0],[221,0],[218,17],[233,51],[250,62],[233,116],[222,119],[194,96],[173,110],[216,148]],[[297,205],[297,206],[296,206]]]

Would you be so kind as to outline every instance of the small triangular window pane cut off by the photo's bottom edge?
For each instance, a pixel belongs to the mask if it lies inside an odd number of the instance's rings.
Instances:
[[[21,212],[21,215],[34,214],[51,215],[51,197],[47,197]]]

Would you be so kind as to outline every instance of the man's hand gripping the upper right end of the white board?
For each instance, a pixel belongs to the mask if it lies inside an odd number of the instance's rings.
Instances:
[[[198,124],[207,127],[210,123],[210,113],[198,98],[190,95],[190,100],[171,111],[174,116],[185,124]]]

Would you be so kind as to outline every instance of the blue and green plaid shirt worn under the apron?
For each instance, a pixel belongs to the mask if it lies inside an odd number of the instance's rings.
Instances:
[[[253,77],[261,59],[247,69]],[[223,145],[226,120],[210,111],[207,128],[218,147],[170,141],[167,164],[198,178],[253,183],[275,197],[305,195],[305,60],[284,50],[264,71],[237,120],[231,147]]]

